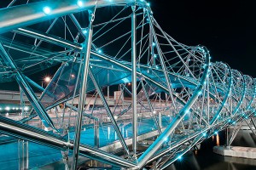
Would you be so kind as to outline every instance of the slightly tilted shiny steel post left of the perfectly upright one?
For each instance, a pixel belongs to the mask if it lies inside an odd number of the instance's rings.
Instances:
[[[82,77],[81,77],[81,86],[80,86],[80,95],[79,95],[79,112],[77,117],[77,126],[75,129],[75,138],[73,145],[73,162],[72,162],[72,170],[77,168],[77,161],[79,158],[79,144],[80,144],[80,132],[82,127],[82,118],[84,112],[84,104],[86,99],[86,89],[87,89],[87,78],[88,78],[88,68],[90,61],[90,46],[91,46],[91,38],[92,38],[92,23],[94,21],[94,14],[89,10],[89,26],[88,26],[88,36],[84,42],[84,47],[82,50],[81,56],[83,57],[83,66],[82,69]]]

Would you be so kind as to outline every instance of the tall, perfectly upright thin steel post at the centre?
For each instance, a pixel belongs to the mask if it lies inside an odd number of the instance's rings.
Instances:
[[[132,150],[137,157],[137,34],[136,34],[136,4],[131,6],[131,88],[132,88]]]

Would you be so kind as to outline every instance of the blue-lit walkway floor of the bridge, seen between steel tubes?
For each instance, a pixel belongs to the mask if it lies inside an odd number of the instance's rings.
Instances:
[[[170,117],[162,117],[162,126],[166,127],[170,122]],[[125,139],[132,136],[131,122],[119,123],[119,129]],[[152,117],[138,121],[138,135],[149,133],[156,129]],[[73,139],[74,133],[70,133],[70,139]],[[113,126],[100,126],[100,147],[113,144],[118,137],[113,130]],[[81,144],[94,145],[94,129],[83,129],[81,133]],[[18,162],[18,143],[0,145],[0,169],[19,169]],[[29,143],[29,168],[36,168],[62,159],[61,151],[55,150],[44,145]]]

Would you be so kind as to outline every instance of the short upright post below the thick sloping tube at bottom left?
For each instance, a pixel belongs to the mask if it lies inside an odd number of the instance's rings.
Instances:
[[[28,169],[28,142],[18,140],[19,169]]]

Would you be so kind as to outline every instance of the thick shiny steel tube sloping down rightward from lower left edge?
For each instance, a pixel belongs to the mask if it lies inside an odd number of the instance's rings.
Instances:
[[[37,127],[32,127],[24,123],[16,122],[6,117],[0,116],[0,132],[15,138],[24,139],[36,144],[55,148],[57,150],[73,150],[73,142],[67,142],[54,133],[45,132]],[[119,156],[114,156],[102,150],[80,144],[79,155],[88,157],[93,160],[102,161],[116,167],[137,167],[136,163],[126,161]]]

